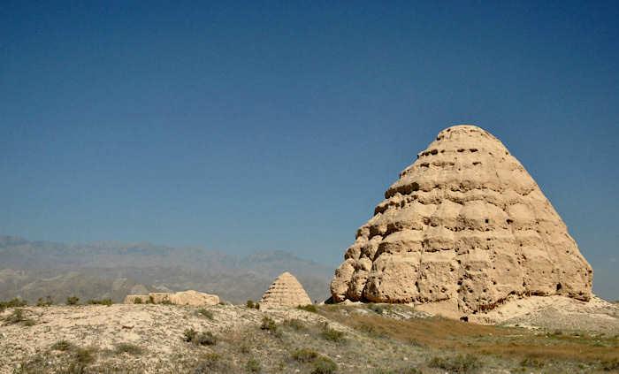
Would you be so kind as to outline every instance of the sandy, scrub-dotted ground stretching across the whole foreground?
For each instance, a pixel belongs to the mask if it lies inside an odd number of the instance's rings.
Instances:
[[[616,305],[564,296],[514,302],[501,308],[517,309],[507,312],[516,317],[505,318],[501,309],[486,316],[485,322],[493,317],[501,326],[358,302],[307,311],[160,304],[10,308],[0,313],[0,373],[619,370]],[[209,344],[186,341],[187,329],[212,334],[199,340]]]

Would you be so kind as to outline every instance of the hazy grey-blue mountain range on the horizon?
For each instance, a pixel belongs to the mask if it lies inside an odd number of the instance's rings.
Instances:
[[[225,301],[258,300],[281,272],[292,272],[312,300],[328,296],[333,270],[284,251],[233,256],[150,243],[63,244],[0,236],[0,299],[64,302],[195,289]]]

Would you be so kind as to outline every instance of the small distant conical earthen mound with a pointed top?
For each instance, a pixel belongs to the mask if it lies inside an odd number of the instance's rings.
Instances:
[[[301,283],[289,272],[276,278],[264,293],[260,305],[264,307],[296,307],[311,304],[310,296]]]

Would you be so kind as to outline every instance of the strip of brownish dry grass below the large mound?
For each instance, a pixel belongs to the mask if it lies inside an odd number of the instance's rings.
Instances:
[[[619,359],[617,337],[536,333],[523,328],[471,324],[441,317],[398,320],[373,313],[344,314],[337,308],[323,308],[320,313],[358,331],[379,332],[395,340],[415,341],[417,345],[439,350],[521,360],[608,362]]]

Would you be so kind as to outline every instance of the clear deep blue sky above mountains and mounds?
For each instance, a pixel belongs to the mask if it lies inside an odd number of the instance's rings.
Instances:
[[[619,299],[619,3],[63,3],[0,7],[0,233],[335,266],[473,123]]]

